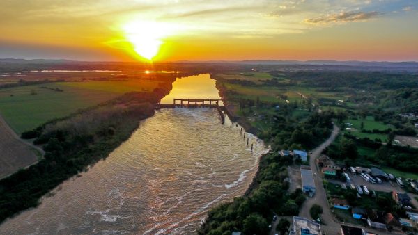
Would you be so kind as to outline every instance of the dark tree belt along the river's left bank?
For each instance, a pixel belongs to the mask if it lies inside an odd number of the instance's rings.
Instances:
[[[22,134],[36,138],[45,157],[1,179],[0,222],[37,206],[40,198],[62,181],[107,157],[137,129],[139,120],[153,115],[155,104],[170,86],[151,93],[131,92]]]

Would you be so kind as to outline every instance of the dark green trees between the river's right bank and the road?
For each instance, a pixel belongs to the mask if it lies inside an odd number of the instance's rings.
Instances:
[[[330,134],[335,113],[312,113],[307,121],[299,123],[282,111],[275,115],[274,128],[263,134],[263,139],[272,145],[272,151],[261,157],[258,172],[249,191],[233,202],[222,204],[208,212],[206,222],[199,234],[268,234],[273,213],[280,216],[295,216],[305,200],[300,189],[288,192],[287,165],[293,163],[291,156],[281,156],[278,150],[288,147],[308,149],[323,141]]]

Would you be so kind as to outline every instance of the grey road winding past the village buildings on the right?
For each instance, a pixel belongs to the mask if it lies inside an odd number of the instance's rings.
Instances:
[[[339,133],[339,128],[336,127],[334,124],[334,128],[332,129],[332,134],[330,138],[325,140],[325,142],[316,147],[316,149],[313,149],[310,154],[309,159],[309,165],[311,166],[312,172],[316,174],[314,177],[315,186],[316,186],[316,193],[314,197],[308,198],[304,204],[302,205],[302,209],[300,210],[299,216],[304,218],[311,218],[311,215],[309,214],[309,209],[311,209],[311,206],[314,204],[318,204],[323,207],[323,215],[322,219],[324,222],[324,225],[322,226],[323,231],[325,234],[339,234],[341,231],[341,226],[339,222],[337,222],[334,219],[334,215],[332,215],[330,209],[328,209],[328,202],[327,202],[327,195],[325,194],[325,189],[323,186],[323,179],[320,177],[320,172],[318,168],[316,167],[315,160],[316,158],[323,152],[323,150],[331,145],[331,143],[335,140],[336,136]]]

